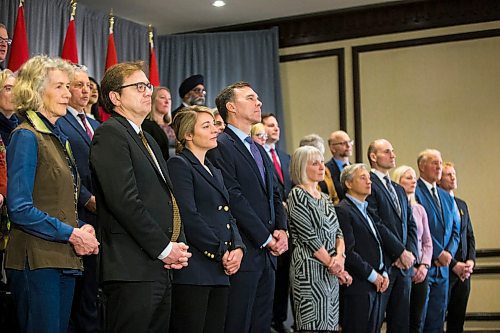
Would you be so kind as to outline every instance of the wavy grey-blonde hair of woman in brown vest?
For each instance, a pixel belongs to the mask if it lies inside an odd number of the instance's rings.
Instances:
[[[43,106],[42,96],[49,72],[60,70],[73,79],[73,66],[61,58],[38,55],[29,59],[17,72],[14,85],[14,103],[17,112],[24,116],[26,111],[37,111]]]

